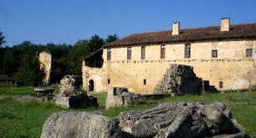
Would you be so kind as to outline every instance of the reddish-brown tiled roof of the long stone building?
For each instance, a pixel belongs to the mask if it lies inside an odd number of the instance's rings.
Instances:
[[[256,23],[231,25],[230,31],[228,32],[221,32],[220,26],[213,26],[181,29],[179,35],[172,35],[172,30],[135,33],[113,43],[107,43],[104,47],[149,43],[189,42],[226,38],[256,38]]]

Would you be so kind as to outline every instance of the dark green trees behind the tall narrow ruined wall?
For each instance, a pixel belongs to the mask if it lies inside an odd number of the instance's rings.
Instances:
[[[105,43],[111,43],[117,39],[116,34],[108,35],[105,39],[94,35],[90,39],[81,39],[74,45],[35,44],[24,41],[12,47],[0,48],[0,73],[13,77],[18,85],[37,85],[44,77],[40,69],[38,54],[46,51],[52,54],[51,84],[59,83],[65,74],[76,74],[82,80],[80,59],[102,48]],[[4,37],[2,43],[5,43]]]

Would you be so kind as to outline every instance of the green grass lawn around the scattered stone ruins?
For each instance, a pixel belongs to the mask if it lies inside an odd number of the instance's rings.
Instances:
[[[28,94],[33,94],[33,88],[0,87],[0,96],[18,96]],[[98,110],[103,115],[109,117],[115,117],[122,111],[146,109],[164,102],[224,102],[232,110],[233,118],[237,119],[238,123],[245,127],[249,135],[256,137],[256,91],[167,97],[161,100],[155,100],[156,103],[152,104],[115,107],[109,110],[104,109],[106,94],[94,95],[98,98],[100,107],[98,109],[83,109],[82,111]],[[49,117],[49,115],[61,110],[64,109],[49,103],[38,104],[33,102],[0,100],[0,135],[1,137],[39,137],[44,121]]]

